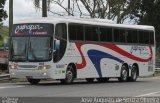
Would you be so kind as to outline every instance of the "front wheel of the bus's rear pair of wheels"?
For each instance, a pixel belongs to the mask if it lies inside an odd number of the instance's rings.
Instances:
[[[118,78],[120,82],[126,82],[128,80],[128,68],[123,65],[121,68],[121,76]]]

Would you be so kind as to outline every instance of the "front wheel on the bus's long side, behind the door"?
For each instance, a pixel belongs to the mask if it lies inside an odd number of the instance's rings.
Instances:
[[[61,79],[61,83],[63,84],[71,84],[75,78],[75,73],[73,70],[72,65],[68,66],[67,71],[66,71],[66,78]]]

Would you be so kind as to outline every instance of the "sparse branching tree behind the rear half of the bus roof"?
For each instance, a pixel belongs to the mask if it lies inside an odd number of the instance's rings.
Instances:
[[[141,0],[80,0],[92,18],[107,18],[123,23],[135,19]]]

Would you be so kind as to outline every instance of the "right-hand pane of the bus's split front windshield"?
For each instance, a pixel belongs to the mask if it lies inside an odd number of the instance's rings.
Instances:
[[[51,55],[50,37],[31,37],[29,42],[28,60],[45,61],[49,60]]]

